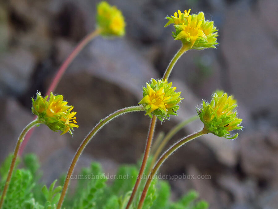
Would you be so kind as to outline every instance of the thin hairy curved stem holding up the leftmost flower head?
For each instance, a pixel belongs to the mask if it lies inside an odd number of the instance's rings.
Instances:
[[[3,205],[3,203],[4,203],[4,198],[5,198],[5,196],[6,196],[6,193],[7,193],[7,190],[8,190],[9,184],[10,184],[10,181],[11,181],[11,176],[12,176],[13,170],[14,170],[14,168],[15,168],[15,161],[16,161],[17,154],[18,154],[18,151],[19,151],[19,147],[20,147],[21,143],[23,142],[26,133],[27,133],[32,127],[34,127],[36,124],[39,124],[39,123],[40,123],[40,122],[39,122],[37,119],[33,120],[31,123],[29,123],[29,124],[23,129],[23,131],[22,131],[21,134],[19,135],[19,138],[18,138],[17,143],[16,143],[16,146],[15,146],[15,151],[14,151],[13,159],[12,159],[11,166],[10,166],[10,169],[9,169],[9,173],[8,173],[8,176],[7,176],[7,179],[6,179],[5,187],[4,187],[4,189],[3,189],[3,193],[2,193],[2,196],[1,196],[1,200],[0,200],[0,209],[2,208],[2,205]]]

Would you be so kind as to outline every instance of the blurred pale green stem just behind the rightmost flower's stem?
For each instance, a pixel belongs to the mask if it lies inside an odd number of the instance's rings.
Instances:
[[[160,153],[162,152],[163,148],[165,147],[165,145],[170,141],[170,139],[179,131],[181,130],[184,126],[186,126],[187,124],[191,123],[192,121],[198,119],[199,116],[198,115],[194,115],[193,117],[177,124],[176,126],[174,126],[164,137],[164,139],[162,140],[162,142],[159,144],[157,150],[154,153],[154,157],[152,159],[151,165],[150,165],[150,169],[153,168],[154,163],[156,162],[156,160],[158,159],[158,156],[160,155]],[[147,173],[150,173],[150,171],[148,171]]]

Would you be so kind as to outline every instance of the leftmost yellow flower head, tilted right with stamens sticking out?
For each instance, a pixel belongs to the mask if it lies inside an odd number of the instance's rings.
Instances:
[[[62,131],[61,135],[69,132],[72,135],[73,128],[77,128],[76,112],[71,112],[73,106],[67,105],[62,95],[42,97],[38,92],[36,100],[32,98],[32,112],[38,116],[40,123],[47,125],[53,131]],[[48,99],[48,100],[47,100]]]

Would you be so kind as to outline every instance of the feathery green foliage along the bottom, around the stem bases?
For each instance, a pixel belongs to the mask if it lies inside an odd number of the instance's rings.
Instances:
[[[2,191],[6,173],[9,170],[11,156],[0,167]],[[13,173],[3,208],[25,209],[54,209],[60,198],[61,186],[55,187],[57,180],[49,186],[42,186],[39,182],[40,165],[35,155],[29,154],[23,158],[25,168],[17,169]],[[150,163],[148,163],[149,165]],[[148,168],[146,169],[148,170]],[[138,175],[137,166],[123,165],[114,176],[103,173],[98,163],[92,163],[90,168],[83,168],[78,178],[78,184],[73,195],[68,195],[63,208],[70,209],[121,209],[128,202],[131,191]],[[112,184],[107,184],[108,178],[114,178]],[[61,181],[60,183],[63,183]],[[141,194],[145,180],[139,187]],[[42,189],[41,189],[42,188]],[[198,201],[198,194],[191,191],[177,202],[170,201],[171,188],[168,182],[152,181],[144,202],[144,209],[206,209],[208,203]],[[130,208],[137,208],[139,195]]]

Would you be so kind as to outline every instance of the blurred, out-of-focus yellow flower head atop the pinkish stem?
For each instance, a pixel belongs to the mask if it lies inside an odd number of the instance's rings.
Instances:
[[[110,6],[103,1],[97,5],[97,27],[104,36],[123,36],[125,22],[122,12],[116,6]]]

